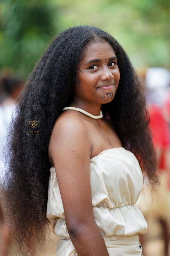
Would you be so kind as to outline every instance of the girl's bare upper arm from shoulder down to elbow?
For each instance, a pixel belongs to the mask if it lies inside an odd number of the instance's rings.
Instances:
[[[67,228],[93,219],[90,189],[91,143],[79,120],[61,120],[52,134],[51,157],[55,166]]]

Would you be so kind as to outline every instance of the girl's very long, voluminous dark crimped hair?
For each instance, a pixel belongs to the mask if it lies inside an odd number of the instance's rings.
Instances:
[[[10,234],[22,251],[29,249],[32,240],[43,244],[48,224],[49,139],[57,117],[73,99],[86,46],[95,40],[112,46],[121,75],[114,99],[101,105],[101,111],[109,116],[123,147],[137,157],[143,174],[152,184],[158,183],[146,101],[127,54],[117,40],[99,28],[71,27],[52,41],[28,77],[8,130],[4,202]],[[37,133],[29,133],[28,125],[37,126]]]

